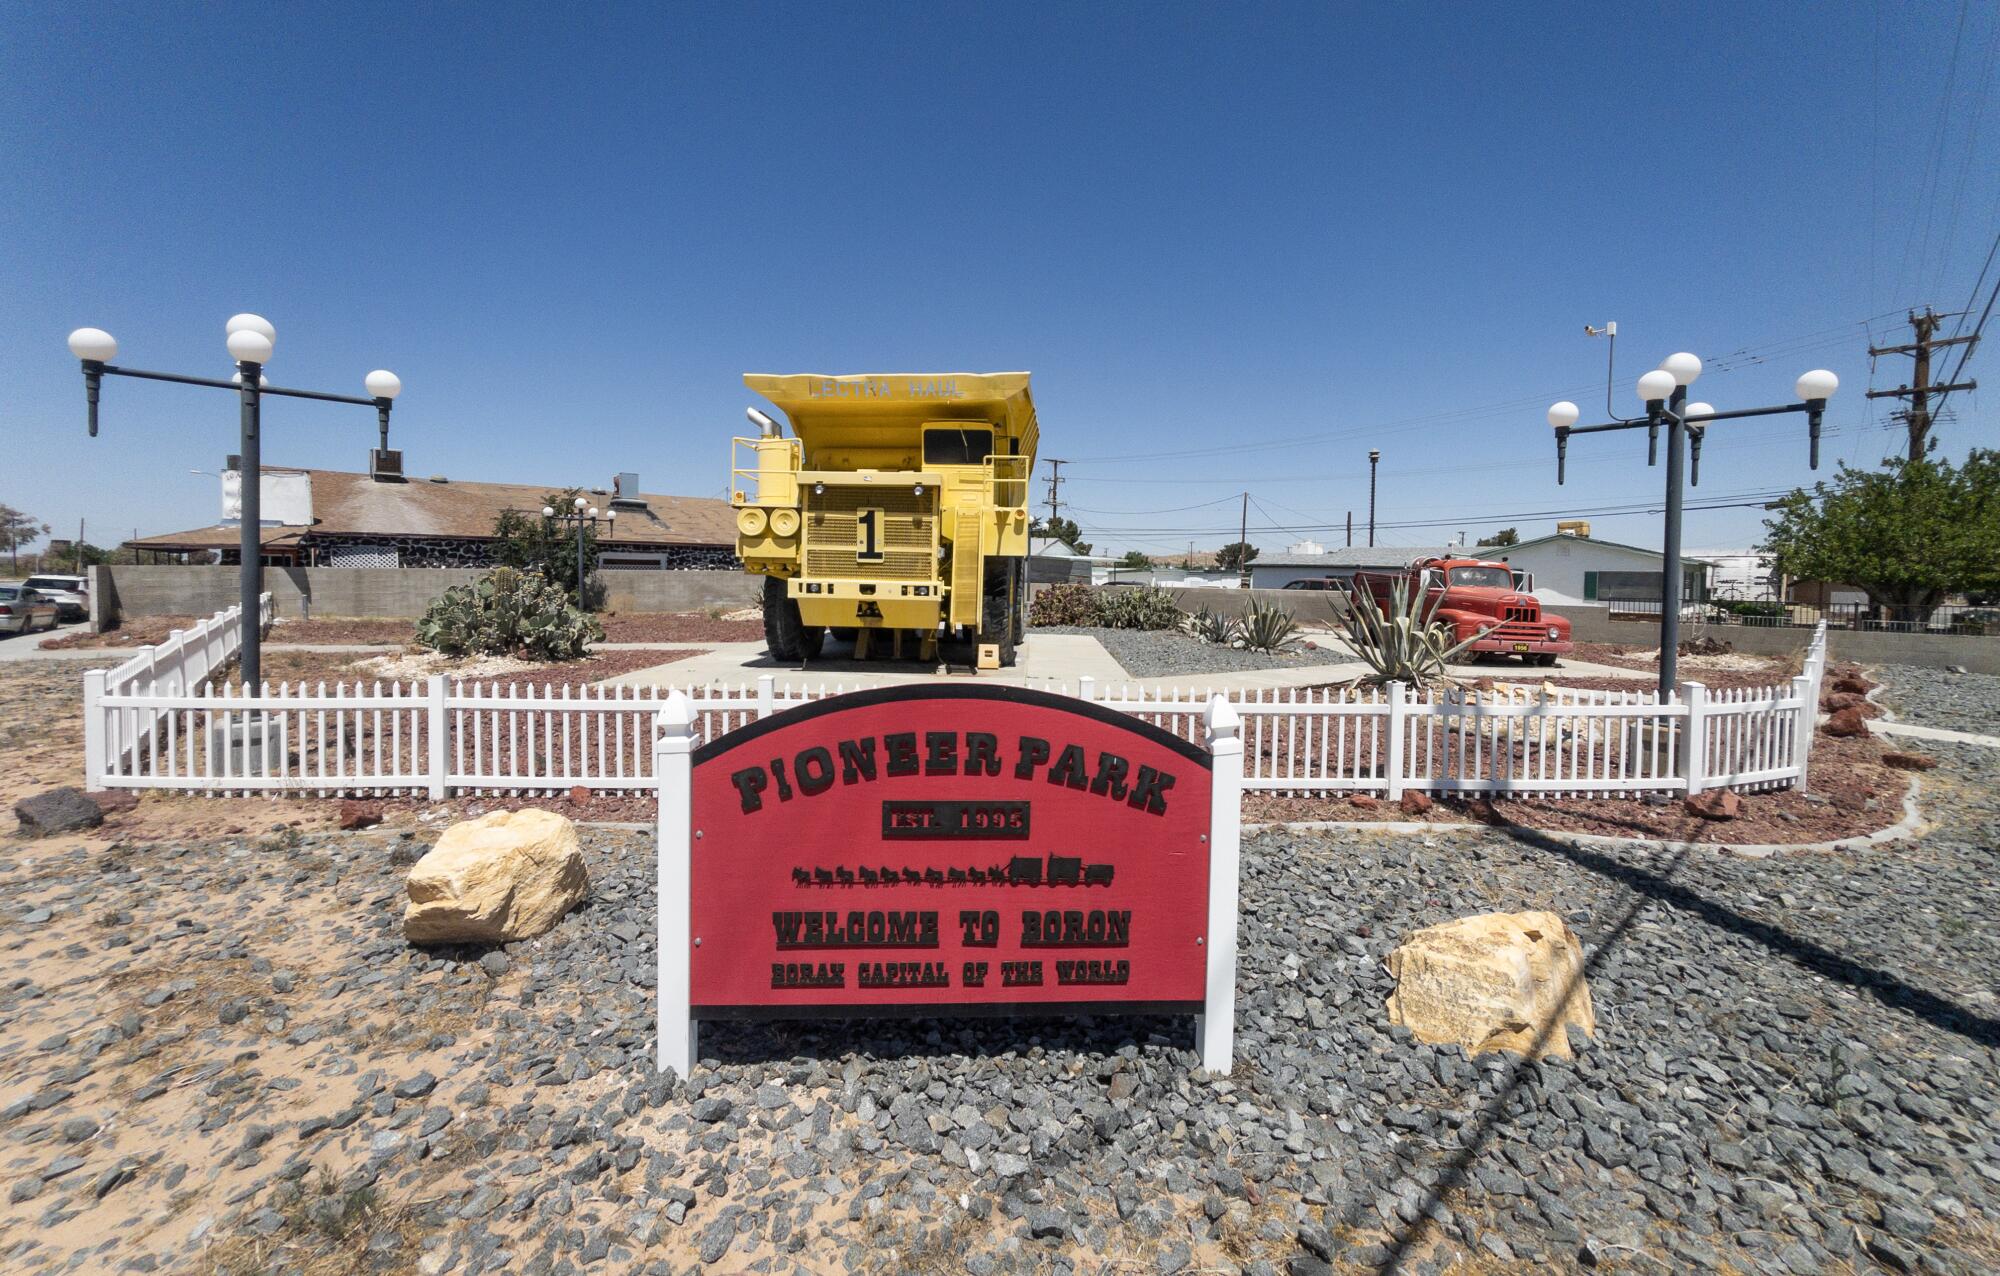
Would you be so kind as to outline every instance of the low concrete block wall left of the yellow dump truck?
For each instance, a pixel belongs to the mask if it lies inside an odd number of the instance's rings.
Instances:
[[[278,616],[416,618],[430,600],[484,576],[480,568],[264,568]],[[614,612],[698,612],[762,598],[762,580],[742,572],[604,572]],[[116,616],[212,616],[236,602],[234,566],[92,568],[98,628]]]

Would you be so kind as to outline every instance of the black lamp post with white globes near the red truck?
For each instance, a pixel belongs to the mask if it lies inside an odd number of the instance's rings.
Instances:
[[[1660,424],[1666,424],[1666,542],[1660,552],[1660,696],[1670,696],[1678,680],[1680,664],[1680,470],[1682,440],[1692,460],[1690,486],[1702,482],[1702,438],[1710,422],[1736,420],[1742,416],[1778,416],[1782,412],[1804,412],[1810,442],[1808,458],[1812,468],[1820,468],[1820,416],[1826,400],[1840,388],[1840,378],[1826,368],[1814,368],[1798,378],[1794,392],[1800,402],[1776,408],[1740,408],[1736,412],[1716,412],[1708,404],[1690,404],[1688,386],[1702,374],[1702,360],[1692,354],[1670,354],[1656,370],[1638,378],[1638,396],[1646,404],[1646,416],[1638,420],[1614,420],[1602,426],[1578,426],[1576,404],[1562,400],[1550,404],[1548,424],[1556,428],[1556,482],[1564,480],[1564,462],[1570,454],[1572,434],[1600,434],[1604,430],[1646,430],[1646,464],[1656,464],[1660,456]]]

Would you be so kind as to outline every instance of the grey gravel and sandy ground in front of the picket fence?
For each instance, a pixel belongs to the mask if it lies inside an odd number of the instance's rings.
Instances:
[[[654,1076],[652,846],[410,950],[422,842],[0,844],[8,1272],[1990,1272],[2000,752],[1894,852],[1246,844],[1238,1068],[1184,1020],[716,1024]],[[1574,1062],[1390,1030],[1418,926],[1554,908]],[[712,1264],[712,1266],[708,1266]]]

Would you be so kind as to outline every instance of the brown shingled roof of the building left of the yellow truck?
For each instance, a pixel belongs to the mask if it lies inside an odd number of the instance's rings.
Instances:
[[[266,474],[312,476],[312,526],[262,528],[266,546],[296,544],[304,536],[340,540],[352,536],[440,536],[492,540],[494,520],[504,510],[542,510],[550,492],[564,484],[426,480],[376,482],[368,474],[344,470],[288,470],[264,466]],[[600,510],[612,494],[586,492]],[[164,536],[130,540],[140,550],[220,550],[234,548],[238,530],[230,526],[190,528]],[[616,532],[602,532],[610,546],[734,546],[736,522],[724,500],[710,496],[642,494],[618,504]]]

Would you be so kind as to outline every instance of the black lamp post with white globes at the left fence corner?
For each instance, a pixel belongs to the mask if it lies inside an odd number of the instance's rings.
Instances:
[[[376,368],[364,378],[368,398],[354,394],[324,394],[320,390],[284,390],[264,382],[264,364],[270,362],[270,352],[278,340],[278,330],[270,326],[270,320],[258,314],[238,314],[232,316],[224,328],[228,336],[230,358],[236,360],[236,376],[230,380],[216,380],[210,376],[180,376],[178,372],[142,372],[138,368],[114,368],[110,360],[118,358],[118,342],[112,340],[110,332],[102,328],[78,328],[70,334],[70,354],[74,354],[84,364],[84,398],[88,402],[90,436],[98,434],[98,388],[106,376],[136,376],[140,380],[154,382],[176,382],[182,386],[210,386],[214,390],[234,390],[240,400],[240,444],[238,452],[242,460],[238,462],[236,478],[240,492],[240,520],[242,538],[238,540],[238,556],[242,558],[240,572],[240,604],[244,622],[244,644],[242,644],[242,680],[246,688],[254,688],[262,682],[262,646],[264,628],[262,616],[258,616],[258,598],[264,592],[264,546],[262,546],[262,456],[260,456],[260,428],[262,410],[266,394],[282,394],[286,398],[318,398],[330,404],[362,404],[364,408],[376,410],[376,422],[382,428],[382,446],[388,446],[388,410],[396,396],[402,394],[402,380],[394,372],[384,372]]]

